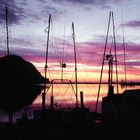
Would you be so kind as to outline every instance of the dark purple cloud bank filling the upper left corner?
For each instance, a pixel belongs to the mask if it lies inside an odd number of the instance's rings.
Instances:
[[[61,10],[54,5],[51,1],[37,0],[1,0],[0,1],[0,23],[5,23],[5,7],[8,8],[8,23],[9,24],[21,24],[25,23],[35,23],[40,20],[46,22],[46,16],[49,14],[58,17],[61,14]],[[47,19],[48,20],[48,19]]]

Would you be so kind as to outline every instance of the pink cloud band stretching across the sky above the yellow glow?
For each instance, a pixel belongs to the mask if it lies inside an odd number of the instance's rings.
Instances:
[[[57,47],[58,53],[56,55],[56,50],[54,51],[53,48],[50,49],[49,56],[48,56],[48,65],[53,65],[51,70],[54,69],[54,72],[58,72],[59,69],[55,69],[56,67],[60,66],[60,50],[62,50],[62,43],[63,40],[57,40]],[[69,43],[67,40],[65,41],[65,54],[64,54],[64,62],[67,64],[66,71],[71,72],[74,68],[74,53],[73,53],[73,44]],[[87,72],[93,73],[100,73],[102,59],[103,59],[103,51],[104,51],[104,42],[80,42],[76,43],[77,46],[77,62],[78,66],[82,64]],[[123,74],[124,69],[124,55],[123,55],[123,44],[121,42],[116,43],[117,46],[117,57],[118,57],[118,68],[120,74]],[[132,71],[135,73],[139,73],[139,69],[136,68],[140,66],[139,58],[140,58],[140,44],[135,43],[125,43],[126,47],[126,65],[127,65],[127,73],[133,74]],[[111,48],[111,43],[108,43],[107,46],[107,53]],[[40,49],[28,49],[28,48],[14,48],[12,50],[14,54],[22,56],[24,59],[36,62],[36,63],[44,63],[45,65],[45,52]],[[114,51],[112,52],[114,54]],[[5,54],[4,50],[0,51],[0,55],[2,56]],[[134,60],[134,61],[133,61]],[[58,65],[57,65],[58,64]],[[57,66],[56,66],[57,65]],[[105,65],[108,65],[108,62],[105,61]],[[88,66],[90,68],[88,69]],[[44,66],[43,66],[44,67]],[[43,71],[43,67],[39,68],[39,71]],[[95,68],[94,68],[95,67]],[[98,69],[96,69],[98,67]],[[93,68],[93,69],[92,69]],[[82,68],[79,68],[82,71]],[[104,69],[104,72],[107,73],[108,70]]]

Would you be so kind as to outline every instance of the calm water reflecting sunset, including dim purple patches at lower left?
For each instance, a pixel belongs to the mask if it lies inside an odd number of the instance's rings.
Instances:
[[[98,93],[98,86],[97,84],[79,84],[78,85],[78,100],[79,99],[79,93],[80,91],[83,91],[84,94],[84,104],[86,107],[90,108],[91,111],[95,108],[95,103],[97,99],[97,93]],[[102,85],[100,90],[100,98],[99,98],[99,106],[98,106],[98,112],[101,112],[101,101],[102,97],[107,95],[107,85]],[[135,87],[127,87],[127,89],[137,89],[140,88],[140,86]],[[75,85],[54,85],[53,88],[50,87],[46,94],[46,105],[49,107],[50,104],[50,96],[54,95],[54,107],[55,108],[70,108],[75,106]],[[125,88],[121,88],[119,86],[119,93],[121,94]],[[116,87],[114,87],[114,92],[116,93]],[[41,94],[36,98],[36,100],[33,102],[33,104],[29,107],[26,107],[25,109],[15,112],[14,113],[14,121],[16,121],[17,118],[20,118],[22,114],[26,111],[29,118],[33,117],[33,110],[35,108],[31,107],[41,107],[42,97]],[[0,112],[0,121],[8,121],[8,114],[4,112]]]

